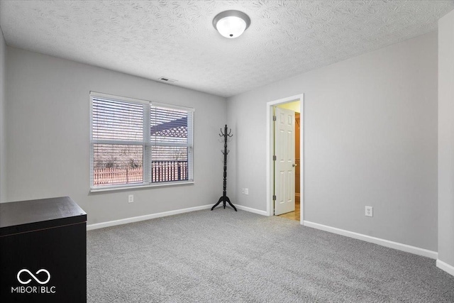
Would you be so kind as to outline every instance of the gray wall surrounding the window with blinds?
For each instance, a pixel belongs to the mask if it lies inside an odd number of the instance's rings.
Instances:
[[[7,70],[8,202],[67,195],[89,224],[217,202],[226,99],[16,48]],[[194,108],[195,184],[89,194],[90,91]]]

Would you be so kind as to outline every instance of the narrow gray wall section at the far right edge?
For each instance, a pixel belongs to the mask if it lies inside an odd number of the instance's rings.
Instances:
[[[438,21],[438,259],[454,267],[454,11]]]

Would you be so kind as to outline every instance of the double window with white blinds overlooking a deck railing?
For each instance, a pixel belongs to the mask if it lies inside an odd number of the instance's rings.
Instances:
[[[194,110],[90,93],[92,189],[192,182]]]

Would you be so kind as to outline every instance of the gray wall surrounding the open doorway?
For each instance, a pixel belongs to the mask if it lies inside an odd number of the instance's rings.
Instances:
[[[436,251],[437,43],[428,33],[229,98],[232,201],[266,210],[266,102],[304,93],[304,220]]]

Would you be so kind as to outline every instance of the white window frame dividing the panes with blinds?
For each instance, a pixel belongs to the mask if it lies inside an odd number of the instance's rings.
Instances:
[[[93,99],[109,99],[112,101],[126,101],[135,104],[143,104],[143,141],[119,141],[119,140],[94,140],[93,139]],[[167,109],[177,109],[191,113],[192,119],[188,119],[188,138],[187,144],[175,143],[153,143],[150,140],[150,109],[152,106],[157,106]],[[145,136],[148,134],[148,136]],[[112,184],[106,186],[94,186],[93,172],[94,172],[94,144],[125,144],[125,145],[143,145],[143,183],[140,184]],[[188,165],[188,180],[169,181],[169,182],[151,182],[151,147],[165,145],[165,146],[186,146],[188,148],[187,165]],[[184,106],[177,106],[173,104],[165,104],[160,102],[152,102],[141,99],[133,99],[128,97],[118,97],[111,94],[104,94],[99,92],[90,92],[90,192],[104,192],[116,189],[134,189],[143,187],[162,187],[180,184],[193,184],[194,183],[194,109]]]

